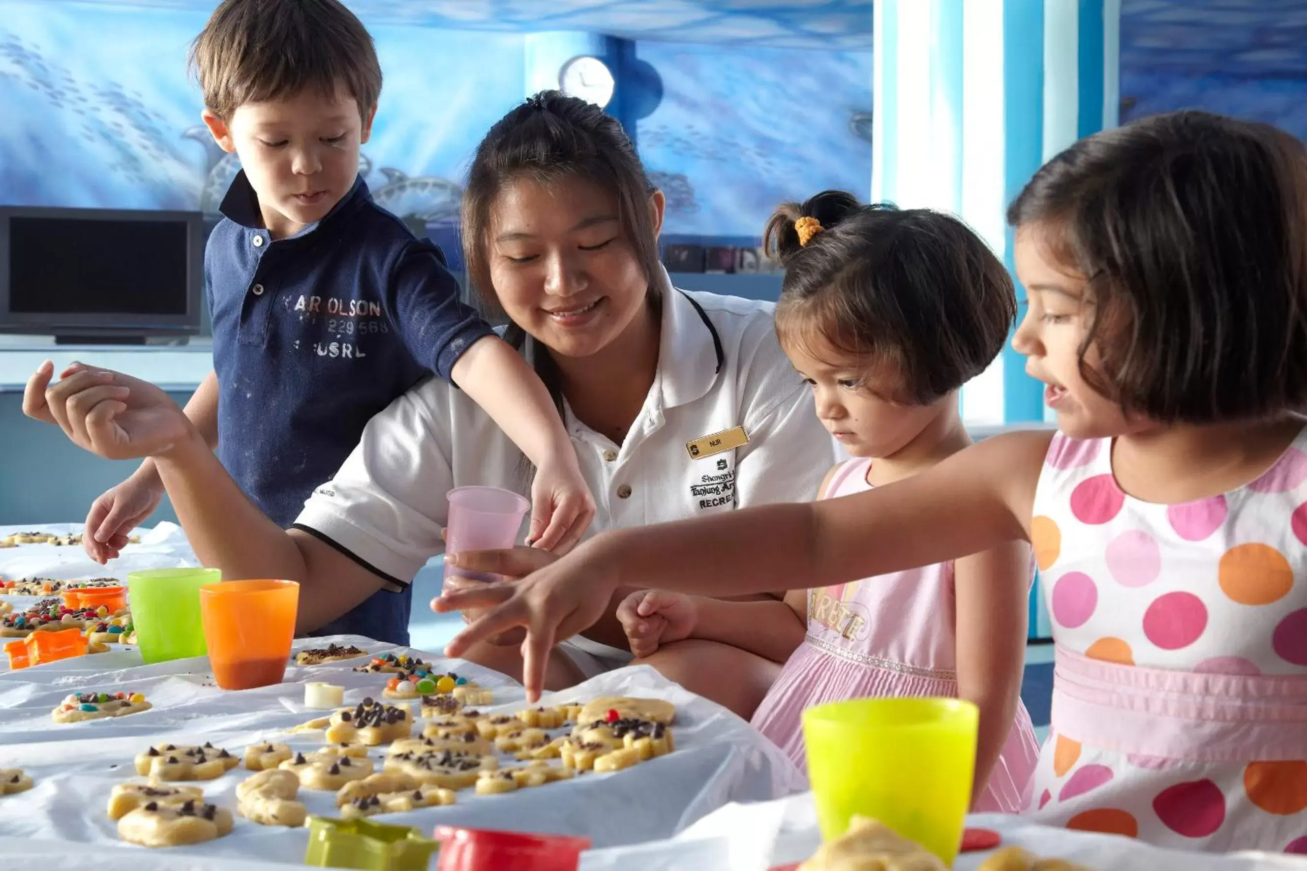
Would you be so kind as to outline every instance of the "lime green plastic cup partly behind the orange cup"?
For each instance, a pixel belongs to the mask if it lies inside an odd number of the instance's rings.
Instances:
[[[207,656],[200,622],[200,588],[217,584],[216,568],[156,568],[127,576],[136,645],[145,662]]]

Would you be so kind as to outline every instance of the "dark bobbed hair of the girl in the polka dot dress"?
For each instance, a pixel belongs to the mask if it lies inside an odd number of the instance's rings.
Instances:
[[[1008,222],[1087,278],[1081,373],[1127,411],[1201,424],[1307,404],[1307,149],[1289,133],[1144,118],[1046,163]]]

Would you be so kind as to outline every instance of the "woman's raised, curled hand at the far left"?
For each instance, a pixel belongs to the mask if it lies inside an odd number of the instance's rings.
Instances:
[[[55,367],[41,364],[22,394],[22,413],[56,423],[73,440],[106,460],[162,456],[195,430],[176,402],[148,381],[73,363],[56,384]]]

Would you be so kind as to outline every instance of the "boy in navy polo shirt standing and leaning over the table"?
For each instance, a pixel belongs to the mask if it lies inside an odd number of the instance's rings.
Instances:
[[[367,420],[434,371],[538,469],[532,538],[579,537],[593,500],[544,384],[358,176],[382,87],[358,18],[339,0],[223,0],[191,60],[204,123],[244,168],[205,249],[214,371],[186,413],[242,490],[289,526]],[[91,556],[116,556],[162,494],[146,460],[101,496]],[[409,606],[408,590],[375,593],[319,632],[406,644]]]

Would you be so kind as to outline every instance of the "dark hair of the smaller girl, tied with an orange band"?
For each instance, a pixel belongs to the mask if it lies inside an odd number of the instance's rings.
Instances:
[[[806,245],[795,227],[801,218],[821,223]],[[965,223],[938,212],[825,191],[780,206],[763,242],[786,268],[780,342],[889,362],[904,402],[929,405],[984,371],[1017,315],[1008,270]]]

